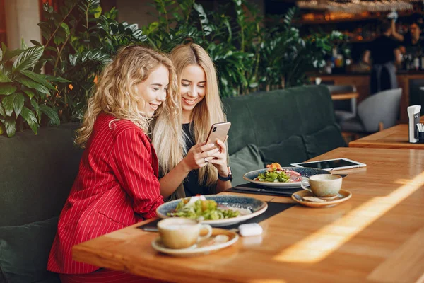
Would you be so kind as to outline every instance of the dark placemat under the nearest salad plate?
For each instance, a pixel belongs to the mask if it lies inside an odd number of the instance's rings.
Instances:
[[[239,222],[234,225],[222,226],[219,228],[233,229],[233,228],[238,228],[238,226],[240,226],[241,224],[259,223],[261,221],[264,221],[265,219],[268,219],[271,216],[274,216],[280,212],[283,212],[285,209],[289,209],[290,207],[293,207],[296,205],[296,204],[286,204],[286,203],[280,203],[280,202],[267,202],[267,204],[268,204],[268,209],[266,209],[266,211],[263,214],[255,216],[251,219],[247,219],[245,221]],[[155,228],[160,220],[162,219],[156,219],[154,221],[149,222],[148,224],[140,225],[137,228],[145,229],[146,231],[149,231],[149,230],[155,231],[156,230]]]

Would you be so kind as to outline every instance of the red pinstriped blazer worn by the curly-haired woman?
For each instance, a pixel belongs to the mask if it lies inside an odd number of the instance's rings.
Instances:
[[[59,216],[47,270],[98,270],[73,261],[72,246],[151,218],[160,204],[158,158],[150,139],[133,122],[100,114]]]

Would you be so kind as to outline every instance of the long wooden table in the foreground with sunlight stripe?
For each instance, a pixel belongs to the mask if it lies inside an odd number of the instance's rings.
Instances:
[[[73,248],[73,258],[170,282],[423,282],[424,151],[339,148],[312,160],[367,163],[347,173],[351,200],[300,205],[261,222],[261,236],[240,238],[211,255],[155,252],[158,236],[134,226]],[[252,195],[272,202],[288,197]]]

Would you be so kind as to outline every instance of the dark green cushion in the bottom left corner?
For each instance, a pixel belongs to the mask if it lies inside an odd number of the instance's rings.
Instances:
[[[60,282],[56,274],[47,272],[56,230],[57,217],[0,227],[0,268],[6,282]]]

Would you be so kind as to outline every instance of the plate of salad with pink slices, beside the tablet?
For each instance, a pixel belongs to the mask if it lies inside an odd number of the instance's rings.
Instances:
[[[250,171],[243,175],[243,179],[263,185],[280,189],[293,189],[300,187],[302,178],[310,178],[312,175],[331,174],[329,171],[317,168],[281,167],[278,163],[272,163],[264,169]]]

